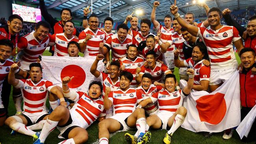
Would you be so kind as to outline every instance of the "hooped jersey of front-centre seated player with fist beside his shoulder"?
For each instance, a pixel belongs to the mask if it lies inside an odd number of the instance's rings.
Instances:
[[[129,88],[122,91],[120,88],[109,92],[108,99],[113,103],[113,115],[117,113],[132,113],[136,109],[136,89]]]

